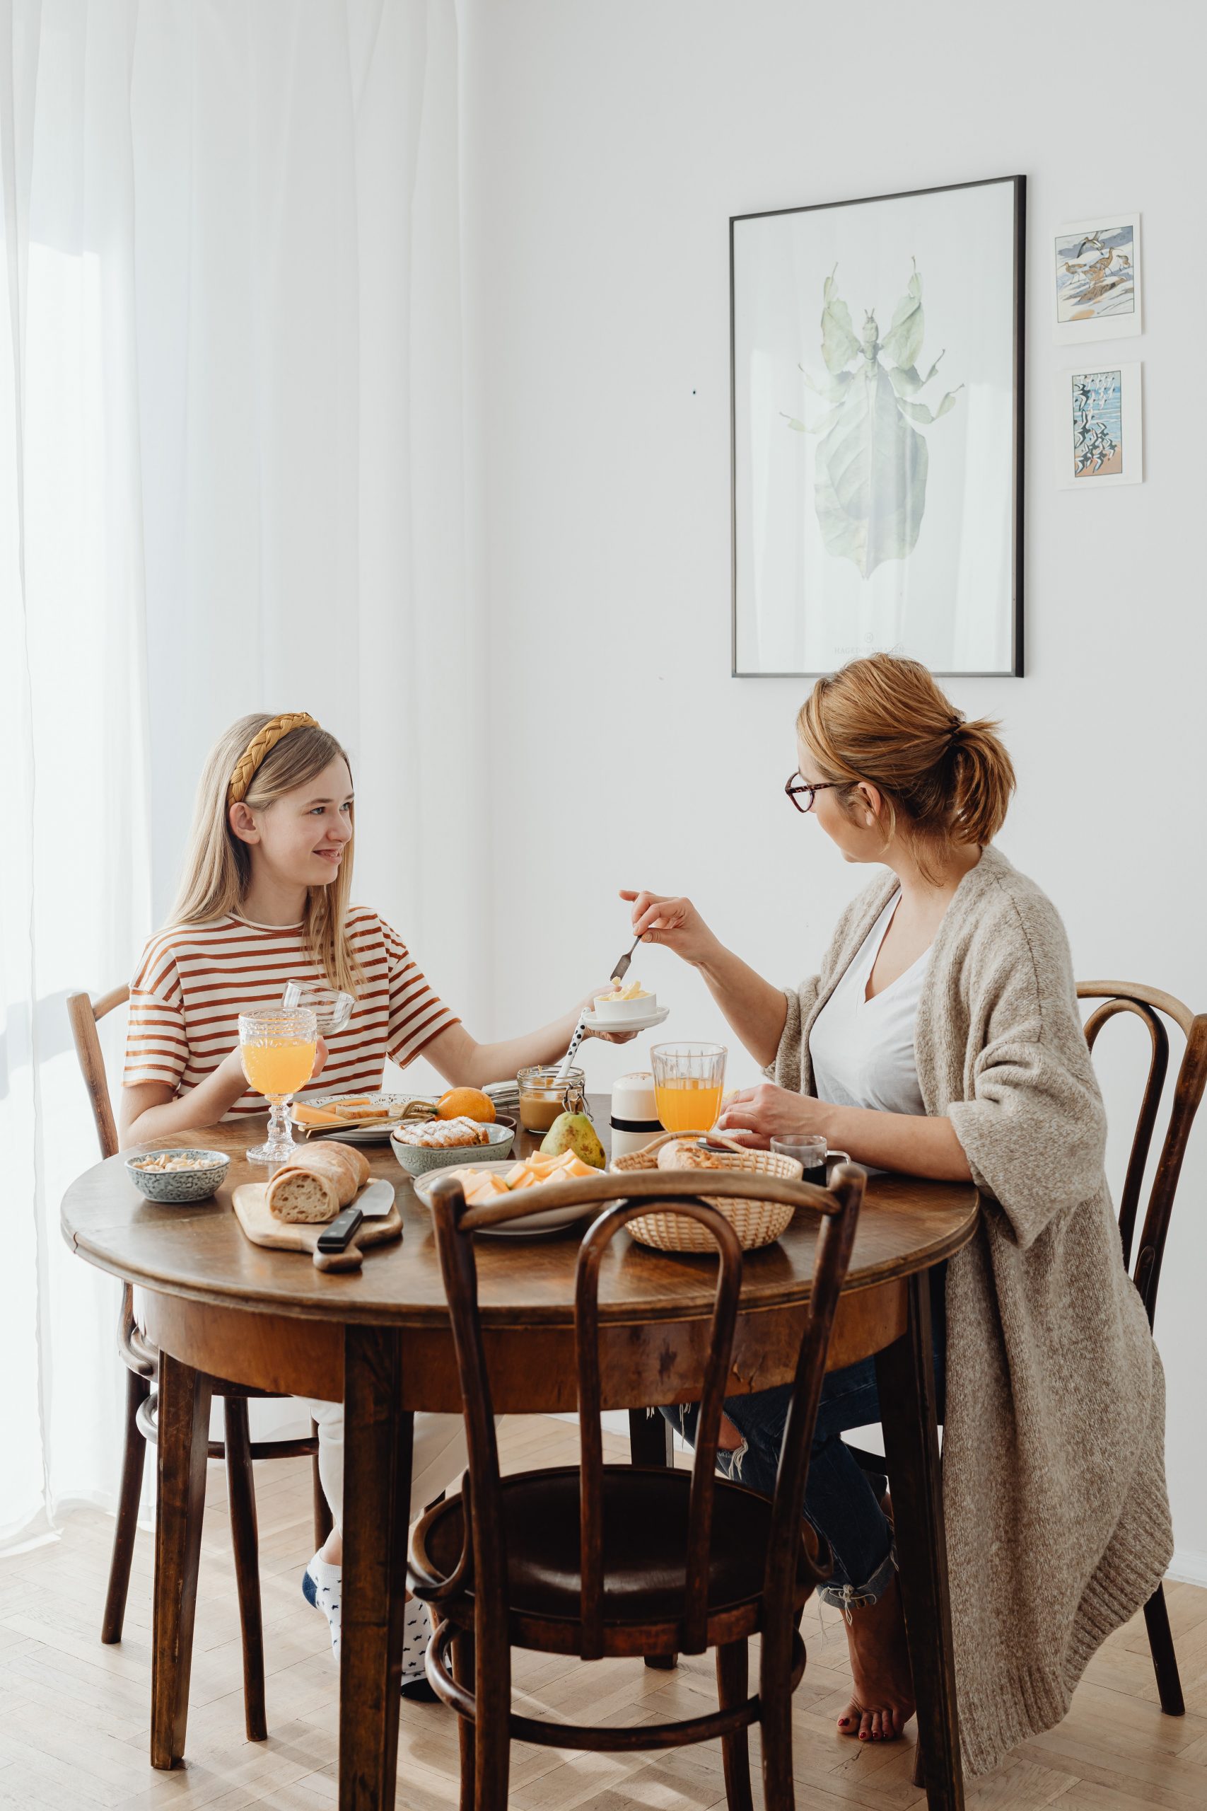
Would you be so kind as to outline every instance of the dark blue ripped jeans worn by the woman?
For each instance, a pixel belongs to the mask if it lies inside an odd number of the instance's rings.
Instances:
[[[946,1382],[946,1264],[930,1273],[930,1320],[934,1331],[934,1378],[939,1420],[943,1420]],[[775,1492],[784,1425],[793,1385],[762,1389],[753,1396],[731,1396],[726,1414],[742,1434],[733,1452],[718,1452],[717,1461],[733,1483],[744,1483],[764,1496]],[[662,1409],[666,1420],[695,1445],[699,1409],[695,1404]],[[834,1570],[818,1590],[823,1603],[841,1610],[876,1603],[896,1572],[892,1523],[879,1507],[889,1480],[883,1472],[865,1472],[840,1438],[852,1427],[879,1422],[876,1360],[861,1358],[845,1371],[831,1371],[822,1385],[818,1422],[809,1451],[805,1483],[805,1519],[829,1541]]]

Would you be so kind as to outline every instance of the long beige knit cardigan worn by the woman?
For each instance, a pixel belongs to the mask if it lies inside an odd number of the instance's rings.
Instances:
[[[780,1087],[813,1094],[809,1030],[896,886],[852,900],[787,992]],[[1122,1264],[1068,938],[993,848],[939,925],[914,1049],[983,1203],[946,1275],[943,1507],[965,1766],[988,1773],[1064,1717],[1173,1552],[1164,1375]]]

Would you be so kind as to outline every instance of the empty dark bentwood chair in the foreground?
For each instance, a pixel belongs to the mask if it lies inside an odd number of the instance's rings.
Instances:
[[[642,1184],[653,1179],[641,1179]],[[767,1177],[727,1177],[726,1190],[776,1190],[822,1213],[809,1320],[775,1498],[715,1476],[717,1436],[742,1286],[733,1226],[700,1201],[693,1177],[657,1179],[659,1212],[706,1226],[720,1250],[700,1393],[695,1463],[604,1465],[601,1436],[599,1266],[615,1233],[648,1201],[613,1206],[613,1175],[546,1184],[536,1203],[494,1197],[467,1206],[452,1177],[432,1188],[436,1244],[449,1298],[469,1445],[461,1490],[431,1509],[411,1536],[409,1585],[436,1621],[427,1677],[461,1719],[461,1807],[505,1811],[510,1742],[633,1751],[720,1737],[731,1811],[751,1811],[747,1728],[762,1724],[764,1791],[791,1811],[793,1691],[805,1670],[800,1615],[827,1576],[802,1518],[809,1445],[825,1353],[863,1201],[863,1172],[843,1164],[829,1190]],[[556,1197],[554,1197],[556,1190]],[[599,1203],[579,1248],[575,1349],[581,1465],[499,1478],[490,1378],[478,1313],[474,1230],[537,1208]],[[758,1691],[747,1695],[747,1639],[760,1635]],[[595,1728],[521,1717],[510,1708],[510,1650],[648,1657],[717,1650],[718,1710],[679,1722]]]

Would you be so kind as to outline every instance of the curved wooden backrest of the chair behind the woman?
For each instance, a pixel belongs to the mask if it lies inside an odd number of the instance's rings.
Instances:
[[[1086,1040],[1091,1050],[1106,1021],[1120,1012],[1135,1014],[1149,1032],[1149,1072],[1136,1116],[1131,1155],[1127,1157],[1124,1193],[1118,1204],[1118,1233],[1124,1244],[1124,1264],[1131,1270],[1133,1282],[1147,1309],[1149,1326],[1153,1326],[1156,1286],[1160,1282],[1178,1177],[1182,1175],[1182,1161],[1191,1126],[1194,1125],[1194,1114],[1207,1085],[1207,1012],[1191,1012],[1173,994],[1165,994],[1158,987],[1144,987],[1140,982],[1079,982],[1077,996],[1079,1000],[1104,1001],[1086,1020]],[[1140,1190],[1169,1072],[1167,1018],[1185,1032],[1185,1050],[1173,1088],[1169,1125],[1165,1126],[1165,1141],[1156,1163],[1144,1228],[1140,1231],[1140,1248],[1133,1268],[1131,1250],[1136,1233],[1136,1213],[1140,1210]]]

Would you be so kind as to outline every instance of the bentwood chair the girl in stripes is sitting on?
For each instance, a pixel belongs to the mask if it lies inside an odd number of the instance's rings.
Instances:
[[[130,996],[128,987],[114,987],[110,992],[92,1000],[85,992],[67,996],[67,1014],[71,1034],[80,1059],[80,1072],[89,1090],[96,1137],[101,1157],[118,1152],[118,1126],[114,1121],[109,1079],[105,1076],[105,1056],[96,1032],[100,1021]],[[118,1356],[127,1367],[127,1413],[125,1445],[121,1454],[121,1487],[118,1490],[118,1523],[114,1527],[114,1550],[109,1563],[109,1592],[105,1595],[105,1619],[101,1623],[101,1641],[121,1641],[125,1623],[125,1601],[130,1588],[130,1563],[134,1559],[134,1536],[138,1532],[138,1505],[143,1494],[143,1460],[147,1443],[156,1443],[156,1405],[159,1351],[141,1333],[134,1317],[134,1289],[123,1284],[121,1313],[118,1318]],[[255,1485],[252,1476],[253,1460],[311,1458],[315,1467],[315,1545],[322,1547],[331,1532],[331,1512],[318,1481],[318,1440],[311,1422],[309,1438],[304,1440],[252,1440],[248,1425],[248,1398],[268,1396],[270,1391],[252,1389],[244,1384],[226,1384],[212,1378],[210,1387],[223,1398],[224,1440],[210,1442],[210,1458],[226,1460],[226,1494],[230,1505],[230,1536],[235,1554],[235,1586],[239,1590],[239,1624],[242,1635],[242,1706],[250,1742],[268,1739],[268,1717],[264,1708],[264,1624],[261,1617],[261,1565],[259,1536],[255,1527]]]

